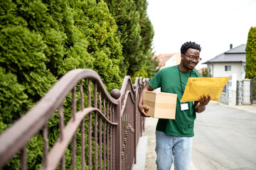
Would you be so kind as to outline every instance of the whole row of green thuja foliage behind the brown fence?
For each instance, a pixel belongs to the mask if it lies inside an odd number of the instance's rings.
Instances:
[[[71,69],[94,69],[108,91],[119,89],[126,74],[142,70],[150,76],[154,30],[146,6],[145,0],[0,1],[0,132]],[[70,103],[68,96],[66,122],[72,116]],[[48,121],[49,147],[58,139],[58,119],[55,113]],[[42,146],[41,133],[28,142],[28,169],[41,166]],[[67,169],[70,154],[66,149]],[[76,162],[79,168],[79,157]],[[14,157],[5,169],[18,169],[18,164]]]

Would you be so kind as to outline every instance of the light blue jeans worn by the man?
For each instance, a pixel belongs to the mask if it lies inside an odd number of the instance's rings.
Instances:
[[[176,137],[156,131],[156,166],[159,170],[189,170],[193,137]]]

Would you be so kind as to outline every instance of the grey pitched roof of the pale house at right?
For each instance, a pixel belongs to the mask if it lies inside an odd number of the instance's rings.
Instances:
[[[226,52],[223,52],[220,55],[217,55],[213,59],[210,59],[203,64],[207,64],[208,62],[245,62],[245,44],[239,45],[238,47],[232,48]],[[237,54],[237,55],[235,55]],[[244,54],[244,55],[239,55]]]

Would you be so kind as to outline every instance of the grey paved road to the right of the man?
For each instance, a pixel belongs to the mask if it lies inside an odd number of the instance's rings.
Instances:
[[[256,111],[209,103],[197,114],[192,160],[196,170],[255,170]]]

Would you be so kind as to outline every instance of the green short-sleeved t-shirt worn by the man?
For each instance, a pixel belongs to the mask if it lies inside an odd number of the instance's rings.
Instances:
[[[201,77],[200,74],[192,70],[192,72],[181,72],[181,81],[178,74],[178,65],[161,69],[155,74],[153,79],[149,81],[149,86],[153,89],[161,87],[161,92],[177,94],[176,115],[175,120],[159,119],[156,130],[165,132],[168,135],[193,137],[194,120],[196,112],[194,111],[193,102],[188,103],[188,110],[181,111],[181,83],[183,91],[185,91],[188,77]]]

